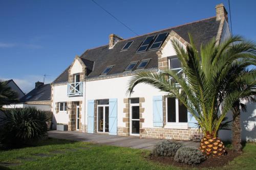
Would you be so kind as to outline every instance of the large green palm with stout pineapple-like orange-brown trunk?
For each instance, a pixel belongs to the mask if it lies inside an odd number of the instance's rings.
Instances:
[[[131,94],[137,84],[145,83],[179,99],[196,118],[204,134],[200,150],[207,155],[222,155],[225,147],[218,138],[219,128],[233,103],[244,95],[239,89],[227,90],[231,83],[228,76],[233,63],[255,61],[256,47],[240,36],[230,37],[219,45],[213,38],[201,45],[199,53],[190,34],[189,39],[190,44],[185,48],[178,40],[172,40],[181,62],[182,76],[169,69],[139,72],[130,79],[127,91]]]

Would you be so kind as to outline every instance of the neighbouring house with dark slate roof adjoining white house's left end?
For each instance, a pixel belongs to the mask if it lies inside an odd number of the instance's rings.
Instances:
[[[35,88],[23,96],[19,103],[4,106],[4,108],[36,107],[44,111],[51,111],[51,85],[36,82]]]

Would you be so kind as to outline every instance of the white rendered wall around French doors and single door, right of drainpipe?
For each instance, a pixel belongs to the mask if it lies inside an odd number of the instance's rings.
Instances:
[[[130,78],[131,76],[127,76],[86,82],[86,106],[88,100],[117,99],[117,126],[125,127],[125,123],[123,123],[123,117],[125,117],[123,99],[129,98],[126,90]],[[142,114],[145,118],[143,128],[153,128],[153,96],[163,94],[150,85],[139,84],[134,88],[131,98],[145,98],[145,102],[142,103],[142,107],[145,108]],[[86,109],[86,116],[87,112],[88,110]]]

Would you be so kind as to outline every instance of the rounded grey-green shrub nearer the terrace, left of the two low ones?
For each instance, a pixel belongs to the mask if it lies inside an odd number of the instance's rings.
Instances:
[[[162,140],[156,144],[153,150],[153,155],[155,156],[175,156],[177,150],[183,147],[180,142],[172,140]]]

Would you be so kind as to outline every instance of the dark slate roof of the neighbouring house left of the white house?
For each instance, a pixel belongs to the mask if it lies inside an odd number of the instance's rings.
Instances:
[[[38,88],[34,88],[22,99],[20,102],[34,102],[34,101],[50,101],[51,100],[51,85],[45,84]]]

